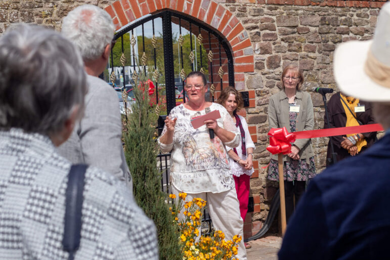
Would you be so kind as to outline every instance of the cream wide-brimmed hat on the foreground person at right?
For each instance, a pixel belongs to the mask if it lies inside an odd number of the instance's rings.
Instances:
[[[390,102],[390,3],[380,10],[373,39],[340,44],[333,64],[341,92],[366,101]]]

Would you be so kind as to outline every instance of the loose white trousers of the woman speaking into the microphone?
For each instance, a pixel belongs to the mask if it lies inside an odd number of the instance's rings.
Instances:
[[[179,193],[181,191],[178,191],[173,185],[171,187],[172,193],[179,198]],[[246,260],[243,231],[244,222],[241,219],[240,203],[237,199],[236,189],[221,193],[190,193],[187,194],[186,201],[191,201],[193,198],[201,198],[206,201],[208,212],[215,230],[224,232],[226,240],[232,240],[234,235],[241,236],[242,240],[238,243],[237,257],[240,260]],[[179,218],[183,219],[183,214],[180,214]]]

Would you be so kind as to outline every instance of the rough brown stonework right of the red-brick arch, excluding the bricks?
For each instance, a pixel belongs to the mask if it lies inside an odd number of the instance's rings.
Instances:
[[[302,89],[312,96],[315,129],[322,128],[322,96],[312,90],[315,87],[337,90],[332,71],[333,51],[343,41],[370,39],[379,9],[255,4],[226,4],[226,8],[244,24],[254,51],[254,72],[246,73],[245,81],[248,90],[255,90],[256,107],[247,110],[246,120],[258,129],[254,158],[259,163],[259,175],[251,180],[251,192],[259,195],[261,211],[253,213],[252,221],[265,221],[277,187],[277,183],[266,179],[268,168],[262,169],[270,161],[266,150],[267,109],[270,96],[281,88],[282,68],[294,63],[304,71]],[[321,172],[328,139],[316,138],[312,142],[317,172]]]

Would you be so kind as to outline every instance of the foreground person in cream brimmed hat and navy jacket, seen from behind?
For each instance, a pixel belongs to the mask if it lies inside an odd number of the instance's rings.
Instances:
[[[371,101],[385,136],[357,157],[314,178],[291,219],[279,259],[387,259],[390,241],[390,3],[373,40],[349,41],[334,54],[345,95]]]

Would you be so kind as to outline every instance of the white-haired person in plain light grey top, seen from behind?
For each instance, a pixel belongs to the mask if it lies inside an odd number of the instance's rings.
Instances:
[[[118,96],[98,76],[106,68],[114,42],[110,15],[93,5],[75,8],[64,18],[61,33],[80,51],[88,74],[84,115],[59,153],[73,163],[104,169],[133,189],[122,148],[122,121]]]

